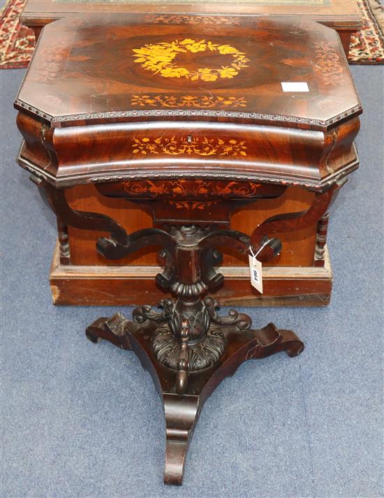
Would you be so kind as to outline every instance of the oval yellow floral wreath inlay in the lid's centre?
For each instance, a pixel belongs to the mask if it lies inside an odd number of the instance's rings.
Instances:
[[[216,81],[218,78],[234,78],[239,74],[249,59],[244,52],[240,52],[231,45],[219,45],[207,40],[193,40],[185,38],[182,41],[172,41],[170,43],[152,43],[140,48],[133,49],[135,62],[141,64],[142,68],[159,74],[163,78],[186,78],[191,81]],[[198,52],[214,53],[219,56],[230,55],[230,64],[219,67],[186,68],[177,65],[177,55],[182,53],[197,54]]]

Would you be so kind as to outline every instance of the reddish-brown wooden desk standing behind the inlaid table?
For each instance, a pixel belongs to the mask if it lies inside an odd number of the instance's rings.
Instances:
[[[43,25],[61,17],[79,13],[124,14],[126,22],[142,24],[201,24],[212,29],[242,27],[249,24],[249,17],[260,15],[304,16],[336,29],[348,52],[352,31],[360,29],[360,15],[355,0],[230,0],[207,3],[184,0],[163,3],[158,0],[29,0],[22,14],[22,22],[34,27],[36,36]],[[168,12],[168,14],[165,14]],[[339,57],[341,57],[340,54]],[[172,101],[168,101],[168,107]],[[177,102],[173,102],[176,106]],[[159,103],[133,101],[133,108],[157,108]],[[209,99],[200,102],[201,108],[212,108]],[[265,107],[265,112],[269,109]],[[313,193],[288,186],[283,196],[274,201],[249,203],[231,217],[231,228],[244,231],[250,223],[260,223],[268,216],[281,212],[306,210],[311,205]],[[68,201],[76,210],[100,211],[108,214],[131,232],[148,226],[150,214],[145,207],[118,198],[105,198],[92,184],[74,186],[68,192]],[[122,207],[131,216],[119,218]],[[327,221],[327,220],[326,220]],[[162,292],[151,282],[158,272],[156,254],[142,249],[111,261],[96,254],[94,233],[73,226],[58,224],[59,243],[54,249],[50,270],[50,286],[55,305],[145,305],[147,300],[156,302]],[[326,306],[332,291],[332,266],[326,245],[325,220],[296,232],[280,235],[283,251],[268,261],[263,272],[263,294],[249,286],[248,259],[232,251],[225,254],[221,272],[226,276],[216,295],[225,305],[236,306]],[[105,292],[108,287],[108,293]]]

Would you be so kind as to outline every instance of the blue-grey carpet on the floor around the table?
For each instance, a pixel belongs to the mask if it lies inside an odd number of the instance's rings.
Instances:
[[[353,66],[364,105],[361,166],[330,221],[325,309],[247,309],[304,339],[299,358],[247,362],[202,411],[182,488],[163,485],[164,425],[135,355],[84,328],[115,309],[53,307],[55,226],[15,164],[1,76],[1,432],[3,498],[383,496],[383,67]],[[126,314],[129,310],[126,309]]]

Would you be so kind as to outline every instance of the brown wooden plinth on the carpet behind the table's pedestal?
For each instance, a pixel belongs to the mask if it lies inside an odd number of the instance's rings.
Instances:
[[[326,306],[332,268],[325,247],[323,267],[265,266],[264,293],[251,287],[249,268],[223,267],[224,285],[214,295],[223,306]],[[165,293],[154,283],[156,266],[60,265],[54,251],[50,286],[54,305],[128,306],[158,302]]]

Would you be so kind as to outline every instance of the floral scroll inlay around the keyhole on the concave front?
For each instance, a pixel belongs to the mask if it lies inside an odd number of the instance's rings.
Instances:
[[[133,154],[197,154],[198,156],[246,156],[245,140],[182,136],[136,138],[133,137]]]

